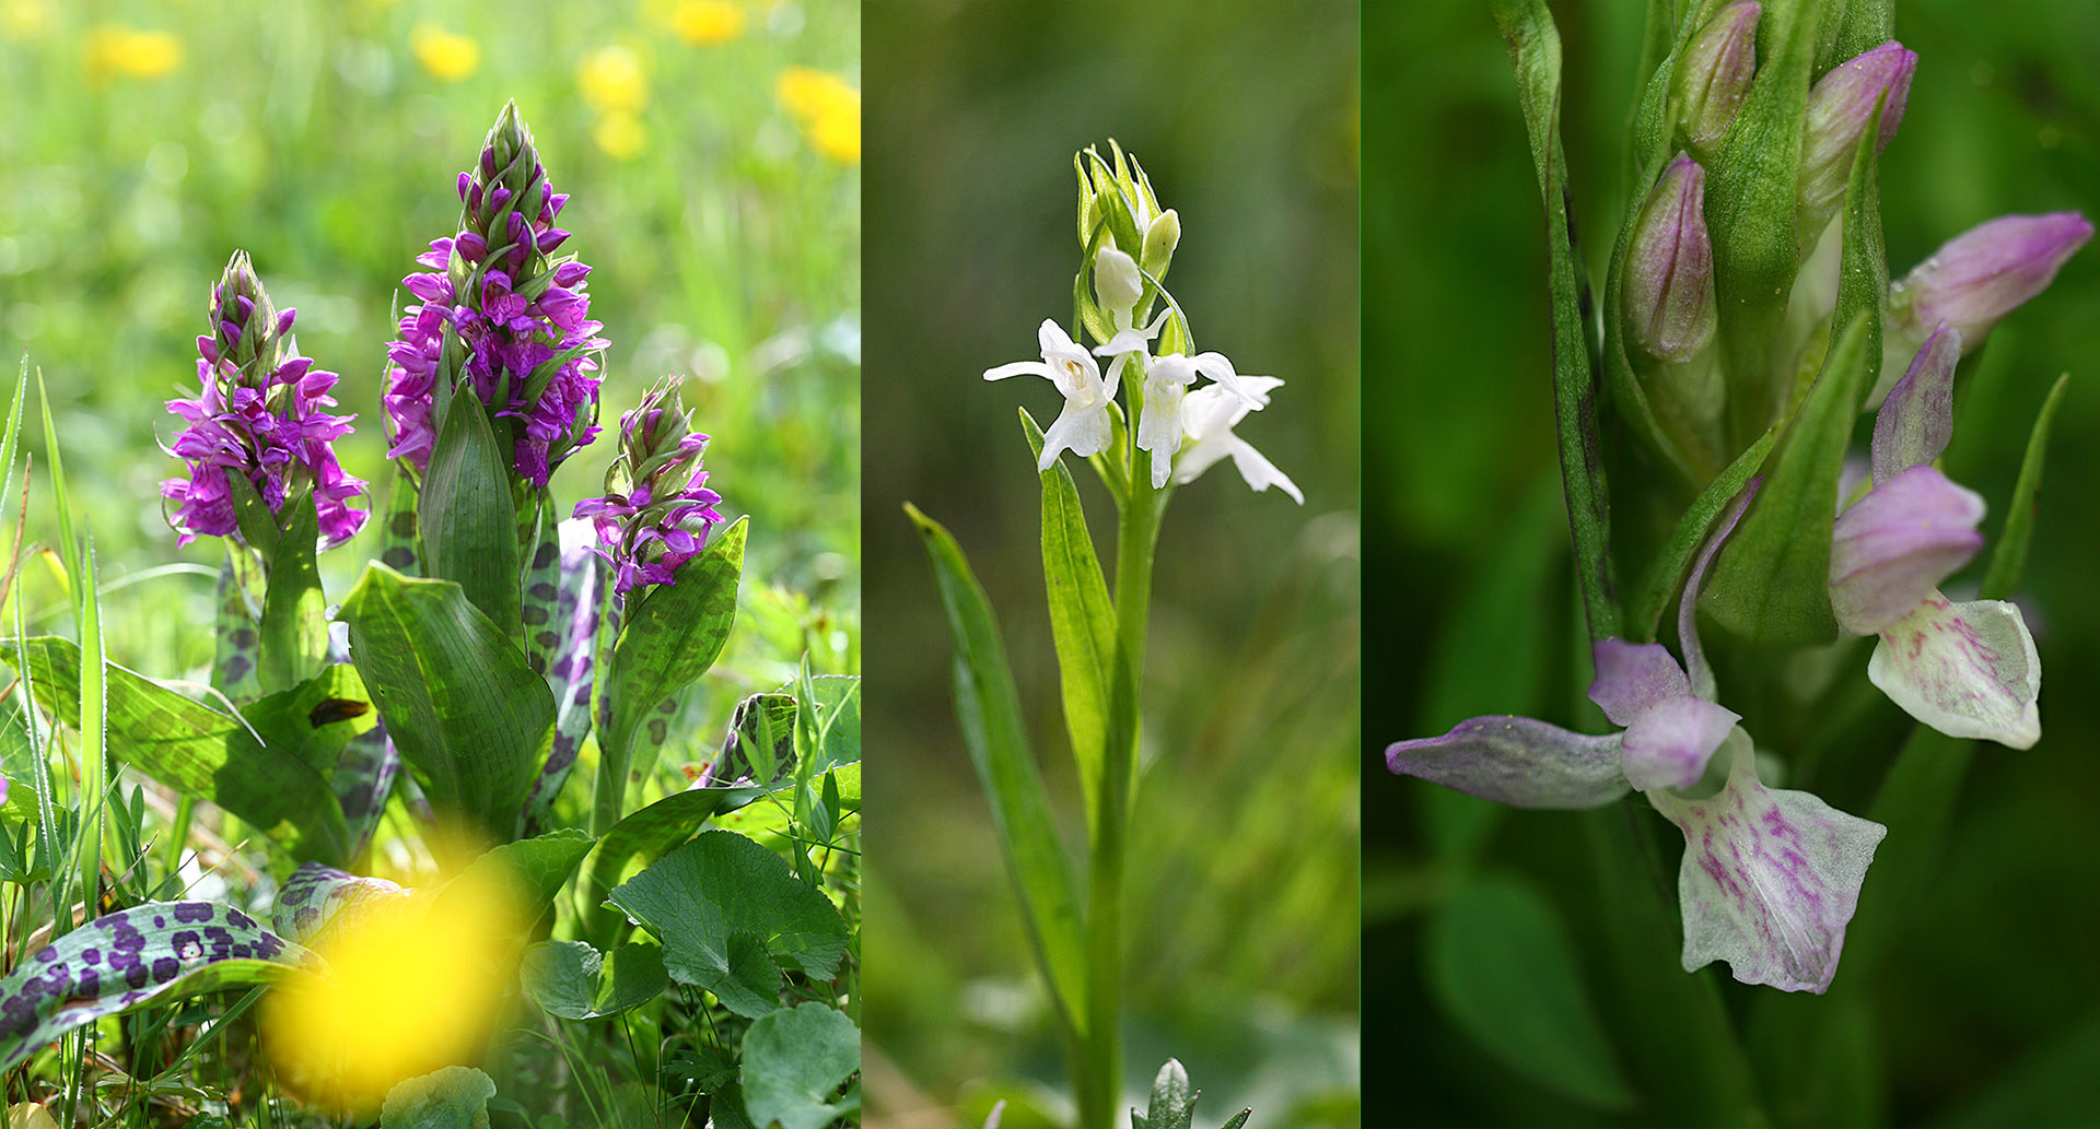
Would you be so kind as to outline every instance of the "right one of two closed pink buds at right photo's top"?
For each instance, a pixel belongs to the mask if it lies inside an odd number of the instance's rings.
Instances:
[[[1882,130],[1875,134],[1873,151],[1888,149],[1903,124],[1903,107],[1911,101],[1911,73],[1917,71],[1917,52],[1896,40],[1846,59],[1816,80],[1808,92],[1808,126],[1802,134],[1802,178],[1798,210],[1804,239],[1812,237],[1829,222],[1831,212],[1844,197],[1852,178],[1852,153],[1858,136],[1867,132],[1873,107],[1886,94],[1882,109]]]

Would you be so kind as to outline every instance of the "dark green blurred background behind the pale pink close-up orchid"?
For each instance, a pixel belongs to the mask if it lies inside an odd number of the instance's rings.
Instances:
[[[1575,225],[1602,279],[1628,191],[1644,4],[1554,10]],[[1898,0],[1896,36],[1919,65],[1882,157],[1894,275],[1995,214],[2100,210],[2100,6]],[[1672,1123],[1682,1116],[1663,1100],[1672,1079],[1640,1077],[1625,1056],[1642,1001],[1611,974],[1600,940],[1611,921],[1588,867],[1586,821],[1630,816],[1504,812],[1384,770],[1388,741],[1466,716],[1569,716],[1588,659],[1552,439],[1544,214],[1508,57],[1485,4],[1369,4],[1363,73],[1365,533],[1367,575],[1384,581],[1369,585],[1363,611],[1365,1121]],[[2100,1110],[2096,302],[2100,250],[2085,248],[1964,367],[1949,451],[1949,474],[1991,502],[1984,533],[1995,537],[2033,416],[2071,371],[2018,594],[2045,672],[2043,741],[2024,753],[1976,751],[1936,873],[1909,904],[1875,907],[1894,923],[1877,967],[1840,965],[1829,995],[1785,1001],[1798,1014],[1838,1009],[1829,1045],[1766,1039],[1758,1022],[1779,1011],[1762,1001],[1772,993],[1735,984],[1722,965],[1701,974],[1749,1026],[1758,1091],[1777,1123],[2077,1125]],[[1974,590],[1980,567],[1949,590]],[[1852,648],[1842,661],[1858,678],[1865,657]],[[1726,672],[1722,686],[1726,695]],[[1842,730],[1829,718],[1800,726],[1781,741],[1768,720],[1754,732],[1793,770],[1821,741],[1814,791],[1865,812],[1907,720],[1869,701]],[[1638,804],[1632,818],[1661,825]],[[1674,875],[1680,839],[1661,825],[1655,842],[1653,873]],[[1520,955],[1508,934],[1468,949],[1464,932],[1430,925],[1464,873],[1495,875],[1504,894],[1514,879],[1522,890],[1510,898],[1564,923],[1602,1026],[1592,1043],[1560,1047],[1556,1068],[1567,1077],[1571,1062],[1600,1058],[1625,1072],[1630,1108],[1546,1085],[1552,1070],[1512,1066],[1474,1037],[1483,1024],[1552,1024],[1562,1001],[1525,995],[1533,980],[1510,986],[1502,1009],[1457,1022],[1445,1003],[1453,980]],[[1875,877],[1867,873],[1863,913],[1898,898]],[[1674,907],[1674,879],[1661,881]],[[1674,930],[1655,953],[1672,974]]]

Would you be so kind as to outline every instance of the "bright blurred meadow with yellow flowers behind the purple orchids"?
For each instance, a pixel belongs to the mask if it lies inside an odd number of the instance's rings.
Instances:
[[[174,548],[155,485],[181,464],[155,436],[174,434],[164,401],[195,395],[193,338],[227,256],[254,256],[277,304],[298,306],[300,348],[342,374],[336,397],[359,416],[342,462],[384,506],[399,279],[454,231],[454,176],[517,99],[573,193],[565,252],[594,267],[613,342],[609,436],[556,472],[556,499],[598,493],[620,413],[689,374],[710,485],[754,527],[720,713],[804,648],[850,669],[857,69],[853,0],[0,0],[0,357],[13,374],[27,353],[50,390],[113,588],[111,657],[155,676],[210,659],[220,546]],[[40,428],[25,430],[44,481]],[[374,541],[323,556],[334,596]],[[147,573],[176,560],[200,569]]]

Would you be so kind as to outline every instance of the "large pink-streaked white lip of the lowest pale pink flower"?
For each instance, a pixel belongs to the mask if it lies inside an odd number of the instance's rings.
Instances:
[[[1728,734],[1722,753],[1730,760],[1720,793],[1648,793],[1684,831],[1684,970],[1728,961],[1745,984],[1821,995],[1838,974],[1844,930],[1888,829],[1812,793],[1758,783],[1756,749],[1743,730]]]

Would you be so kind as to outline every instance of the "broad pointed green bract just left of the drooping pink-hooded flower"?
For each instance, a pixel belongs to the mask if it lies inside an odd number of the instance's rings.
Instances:
[[[1858,386],[1867,378],[1867,321],[1856,319],[1831,348],[1823,376],[1793,422],[1758,502],[1714,567],[1701,606],[1726,630],[1762,642],[1829,642],[1838,636],[1829,600],[1829,527],[1838,474],[1852,439]]]

